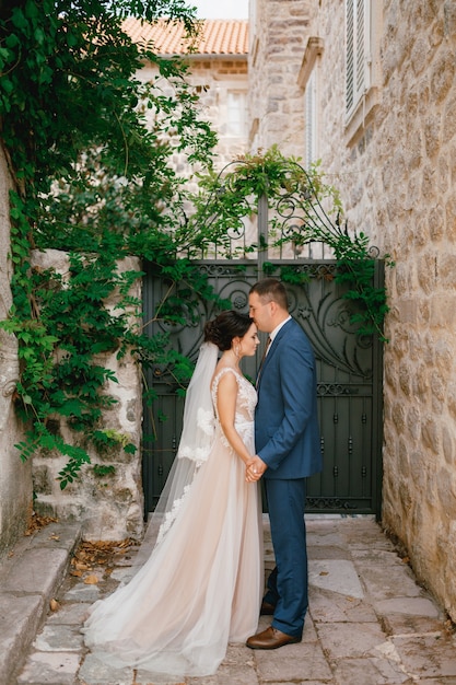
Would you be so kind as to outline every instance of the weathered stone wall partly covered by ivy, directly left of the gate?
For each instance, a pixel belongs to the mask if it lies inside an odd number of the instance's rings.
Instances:
[[[57,249],[35,252],[33,264],[42,268],[54,268],[63,276],[69,266],[67,254]],[[119,269],[139,270],[138,259],[127,257],[119,264]],[[133,298],[141,297],[140,281],[133,286],[130,294]],[[115,302],[113,300],[107,304],[113,306]],[[135,454],[127,454],[121,446],[103,451],[90,449],[91,464],[84,465],[81,477],[69,484],[65,490],[60,490],[57,477],[67,463],[67,457],[45,452],[36,454],[33,458],[35,510],[59,520],[82,522],[85,539],[139,539],[143,534],[140,369],[128,355],[117,360],[116,352],[100,356],[97,361],[110,369],[118,380],[118,383],[109,381],[106,386],[106,393],[115,397],[117,404],[104,411],[103,428],[127,436],[137,446],[137,451]],[[65,422],[56,425],[55,430],[70,444],[74,444],[75,434],[68,430]],[[93,468],[95,464],[113,465],[115,473],[97,476]]]

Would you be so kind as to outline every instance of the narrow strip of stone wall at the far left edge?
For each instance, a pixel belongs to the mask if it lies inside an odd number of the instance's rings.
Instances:
[[[11,307],[10,178],[0,147],[0,318]],[[12,403],[19,378],[17,341],[0,330],[0,559],[24,533],[32,512],[31,464],[22,464],[14,444],[21,427]]]

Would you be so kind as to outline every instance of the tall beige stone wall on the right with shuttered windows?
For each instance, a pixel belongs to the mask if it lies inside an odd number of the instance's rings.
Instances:
[[[456,619],[456,4],[374,5],[377,104],[366,98],[347,123],[343,2],[314,2],[308,35],[325,46],[319,155],[349,224],[396,263],[386,270],[383,522]]]

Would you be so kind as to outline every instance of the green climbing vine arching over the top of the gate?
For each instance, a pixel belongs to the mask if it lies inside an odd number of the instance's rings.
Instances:
[[[219,248],[230,251],[227,230],[243,230],[244,217],[258,211],[258,200],[267,198],[270,210],[268,235],[264,242],[241,246],[244,253],[280,248],[288,245],[304,247],[321,243],[329,247],[337,262],[335,278],[347,283],[346,299],[356,302],[352,323],[359,325],[360,335],[375,334],[386,341],[383,323],[388,312],[387,294],[383,286],[374,285],[377,251],[362,230],[349,230],[343,221],[339,191],[325,181],[320,162],[305,170],[297,158],[285,158],[277,146],[265,153],[246,154],[231,163],[221,174],[211,172],[200,179],[200,191],[194,200],[198,211],[186,227],[188,235],[195,234],[197,225],[210,225],[211,237],[199,234],[188,248],[210,249],[215,236]],[[236,253],[231,253],[236,256]],[[393,266],[389,255],[383,259]],[[264,264],[264,272],[279,276],[283,281],[299,285],[306,280],[299,266],[278,267]]]

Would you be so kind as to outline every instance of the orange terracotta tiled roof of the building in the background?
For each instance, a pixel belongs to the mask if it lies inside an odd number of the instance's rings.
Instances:
[[[207,19],[202,22],[201,38],[196,44],[194,55],[247,55],[248,21]],[[137,19],[127,19],[124,31],[135,43],[150,43],[161,55],[184,55],[188,42],[184,37],[183,24],[141,23]]]

